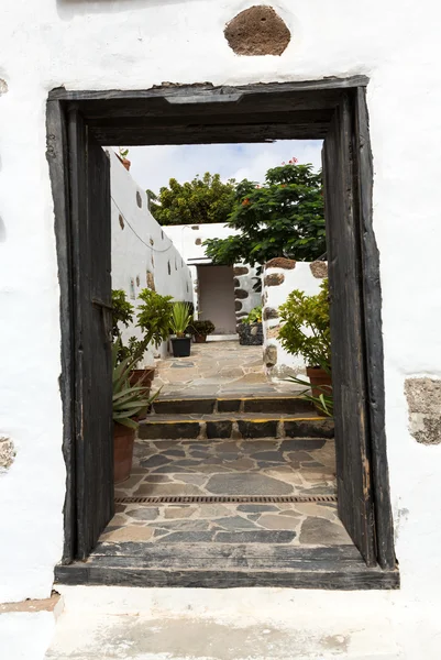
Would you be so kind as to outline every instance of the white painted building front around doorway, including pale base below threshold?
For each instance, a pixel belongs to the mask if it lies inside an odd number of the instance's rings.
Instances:
[[[43,658],[55,620],[25,600],[51,595],[64,542],[60,288],[46,161],[48,92],[62,86],[129,90],[164,81],[241,86],[353,75],[370,79],[385,430],[400,590],[65,588],[62,616],[75,615],[74,623],[65,619],[71,632],[66,648],[75,657],[77,645],[87,642],[93,657],[98,651],[112,657],[111,647],[102,650],[104,641],[144,623],[164,631],[155,653],[146,650],[145,658],[165,657],[176,639],[180,646],[167,656],[176,659],[238,660],[253,657],[254,649],[255,658],[261,650],[261,657],[299,660],[440,657],[438,6],[280,0],[275,7],[291,32],[286,51],[279,57],[241,57],[228,46],[223,29],[246,7],[235,0],[1,3],[0,438],[14,450],[2,452],[8,468],[0,474],[0,602],[21,603],[18,612],[10,605],[0,609],[0,656],[8,660]],[[419,404],[406,398],[409,378]],[[409,416],[422,425],[432,419],[429,442],[416,440]],[[219,651],[196,644],[208,635]],[[271,650],[262,636],[273,642]],[[240,640],[246,653],[234,652]]]

